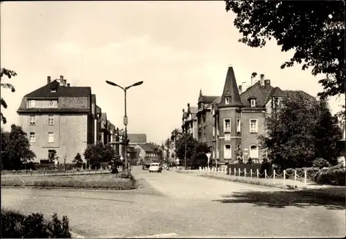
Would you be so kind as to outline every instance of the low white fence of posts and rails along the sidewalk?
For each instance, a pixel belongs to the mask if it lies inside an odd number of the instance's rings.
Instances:
[[[272,183],[272,184],[283,184],[284,186],[289,185],[291,183],[297,185],[300,184],[301,187],[307,187],[307,171],[304,171],[302,175],[298,175],[297,171],[295,170],[293,173],[289,174],[286,173],[286,170],[284,170],[282,173],[276,173],[275,170],[273,170],[273,173],[271,175],[268,175],[266,173],[266,170],[264,170],[264,173],[260,173],[260,171],[257,169],[257,171],[253,172],[251,169],[250,172],[246,172],[246,169],[241,171],[241,169],[229,169],[229,174],[227,174],[226,169],[220,169],[220,168],[207,168],[207,167],[200,167],[199,168],[199,174],[200,175],[215,175],[221,176],[221,178],[227,178],[232,177],[231,179],[234,180],[245,180],[245,181],[257,181],[257,182],[266,182],[266,183]],[[263,176],[264,178],[260,178],[260,176]],[[294,175],[294,180],[289,179],[289,177]]]

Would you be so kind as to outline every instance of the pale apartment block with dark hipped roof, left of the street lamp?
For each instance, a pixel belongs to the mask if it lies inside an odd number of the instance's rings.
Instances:
[[[60,163],[83,156],[87,144],[102,140],[102,111],[90,87],[71,86],[64,76],[47,82],[25,95],[17,113],[19,124],[28,133],[36,162],[46,161],[55,150]]]

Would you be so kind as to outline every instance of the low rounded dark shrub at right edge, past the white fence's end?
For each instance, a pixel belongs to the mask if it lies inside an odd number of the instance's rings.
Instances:
[[[345,173],[345,169],[340,166],[333,166],[329,169],[320,169],[313,180],[318,184],[345,186]]]

